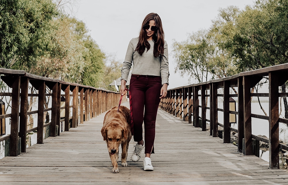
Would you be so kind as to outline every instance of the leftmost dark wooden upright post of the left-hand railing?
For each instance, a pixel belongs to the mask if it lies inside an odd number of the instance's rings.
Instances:
[[[19,137],[19,105],[20,105],[20,76],[16,76],[12,84],[12,108],[11,108],[11,133],[10,133],[10,156],[18,155]],[[26,139],[26,137],[25,137]]]

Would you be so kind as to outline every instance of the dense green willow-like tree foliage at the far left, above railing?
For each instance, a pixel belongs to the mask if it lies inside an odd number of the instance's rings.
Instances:
[[[29,69],[49,50],[50,21],[58,14],[50,0],[2,0],[0,67]]]

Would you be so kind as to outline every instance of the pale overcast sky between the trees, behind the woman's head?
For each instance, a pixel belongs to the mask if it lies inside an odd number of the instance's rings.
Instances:
[[[184,41],[188,33],[209,29],[211,20],[218,15],[219,8],[234,5],[244,9],[255,0],[80,0],[74,16],[82,20],[90,35],[105,54],[115,55],[123,61],[131,38],[138,37],[145,16],[157,13],[163,24],[168,44],[170,85],[168,89],[189,85],[188,77],[174,73],[175,62],[172,44]]]

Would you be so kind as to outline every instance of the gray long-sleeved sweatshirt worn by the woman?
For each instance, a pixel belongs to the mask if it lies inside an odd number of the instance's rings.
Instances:
[[[166,41],[164,42],[164,56],[154,57],[154,42],[148,41],[150,44],[150,49],[143,52],[142,56],[135,52],[136,46],[138,44],[139,37],[130,40],[125,60],[122,67],[121,80],[128,80],[129,71],[133,62],[132,74],[135,75],[152,75],[161,76],[162,85],[169,84],[169,65],[168,65],[168,46]]]

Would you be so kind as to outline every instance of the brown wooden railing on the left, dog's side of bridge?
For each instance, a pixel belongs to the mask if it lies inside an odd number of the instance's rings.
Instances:
[[[0,68],[0,75],[1,80],[12,88],[12,93],[0,92],[0,96],[12,97],[11,113],[0,115],[0,119],[11,118],[10,134],[0,137],[0,141],[6,141],[5,149],[10,156],[26,152],[26,133],[37,130],[37,144],[43,144],[45,127],[50,127],[49,136],[56,137],[60,135],[60,122],[64,122],[64,130],[69,131],[69,128],[75,128],[117,106],[120,99],[120,94],[116,92],[36,76],[25,71]],[[28,93],[31,86],[38,91],[37,94]],[[65,94],[61,94],[61,91]],[[28,97],[38,97],[37,110],[28,111]],[[51,107],[44,109],[46,97],[52,97],[52,103]],[[65,97],[64,107],[61,107],[61,97]],[[61,119],[60,111],[63,109],[65,117]],[[51,112],[51,122],[44,123],[44,113],[48,111]],[[30,114],[37,114],[37,127],[27,130],[27,117]]]

